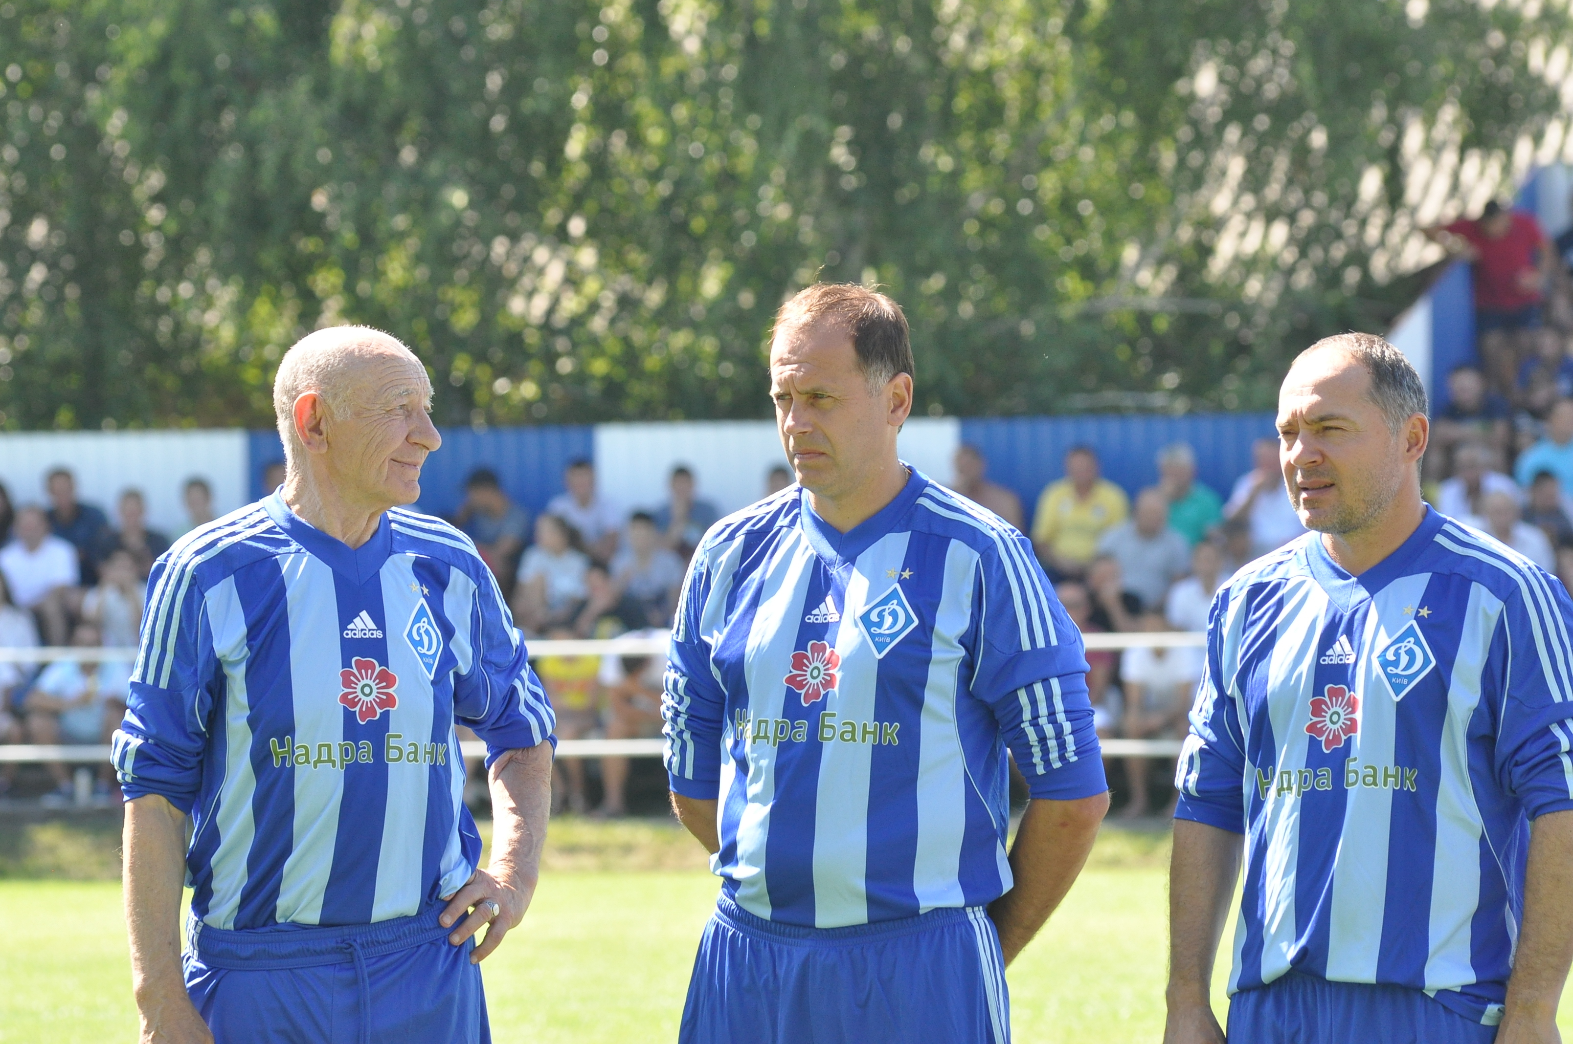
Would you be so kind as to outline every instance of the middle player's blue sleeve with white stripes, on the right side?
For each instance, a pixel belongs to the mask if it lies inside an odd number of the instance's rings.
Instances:
[[[1109,789],[1087,698],[1087,656],[1049,579],[1018,535],[978,563],[972,695],[994,712],[1032,797]]]

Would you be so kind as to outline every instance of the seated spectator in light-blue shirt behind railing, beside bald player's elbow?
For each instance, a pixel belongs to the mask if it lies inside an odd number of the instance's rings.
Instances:
[[[93,648],[99,632],[93,624],[77,624],[71,645]],[[57,660],[44,668],[27,692],[22,711],[27,736],[35,744],[109,744],[110,734],[126,715],[129,664],[96,664]],[[55,780],[55,792],[46,805],[71,802],[71,777],[64,763],[46,764]],[[99,769],[96,792],[109,797],[109,763]]]

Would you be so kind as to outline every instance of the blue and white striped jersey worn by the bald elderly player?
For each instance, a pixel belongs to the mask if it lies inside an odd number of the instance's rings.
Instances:
[[[154,564],[113,759],[192,814],[203,923],[363,925],[475,869],[456,725],[488,764],[554,725],[473,544],[393,509],[351,549],[274,494]]]

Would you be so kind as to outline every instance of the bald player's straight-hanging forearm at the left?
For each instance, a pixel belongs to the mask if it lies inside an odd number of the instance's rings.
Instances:
[[[186,813],[149,794],[126,805],[123,833],[131,986],[145,1025],[170,1006],[190,1008],[181,973],[181,885]]]

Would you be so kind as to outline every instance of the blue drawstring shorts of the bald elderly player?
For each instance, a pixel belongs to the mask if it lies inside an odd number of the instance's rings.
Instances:
[[[186,991],[216,1044],[489,1044],[473,939],[434,906],[346,928],[192,932]]]

